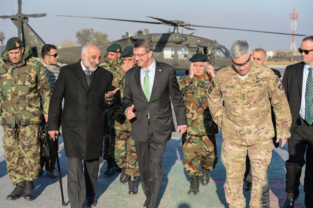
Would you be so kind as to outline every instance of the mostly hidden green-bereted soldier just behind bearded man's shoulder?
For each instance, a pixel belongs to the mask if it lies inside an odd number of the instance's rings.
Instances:
[[[122,47],[118,43],[111,44],[107,49],[107,53],[104,56],[104,62],[100,63],[99,66],[105,68],[113,74],[112,86],[117,88],[119,85],[119,80],[115,76],[115,68],[120,68],[123,64],[121,57]],[[109,119],[108,112],[109,108],[104,106],[104,120]],[[107,161],[107,168],[104,171],[104,175],[112,175],[115,171],[122,172],[120,168],[110,155],[110,126],[105,122],[104,124],[104,138],[103,138],[103,159]]]

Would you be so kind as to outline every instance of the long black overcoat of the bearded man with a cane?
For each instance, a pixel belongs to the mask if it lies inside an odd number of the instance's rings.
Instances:
[[[105,93],[112,90],[112,74],[98,67],[89,87],[80,61],[61,68],[49,105],[48,130],[58,130],[62,99],[62,134],[66,157],[83,160],[102,156],[103,105]]]

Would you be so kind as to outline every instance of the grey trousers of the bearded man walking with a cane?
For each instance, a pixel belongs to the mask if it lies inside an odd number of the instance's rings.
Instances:
[[[98,182],[99,158],[85,160],[67,158],[67,193],[72,208],[84,206],[86,196],[95,196]]]

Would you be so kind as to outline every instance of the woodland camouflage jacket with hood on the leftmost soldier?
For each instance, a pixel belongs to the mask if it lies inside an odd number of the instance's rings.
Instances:
[[[41,115],[48,114],[50,85],[45,68],[32,58],[33,52],[25,46],[18,63],[10,61],[8,51],[0,59],[0,123],[3,127],[40,124]]]

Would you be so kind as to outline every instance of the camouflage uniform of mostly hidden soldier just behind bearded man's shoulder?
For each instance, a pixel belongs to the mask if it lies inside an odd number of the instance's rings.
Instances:
[[[108,53],[105,54],[103,59],[104,59],[104,62],[100,63],[99,66],[102,68],[105,68],[108,71],[110,71],[111,67],[120,67],[123,63],[122,58],[118,58],[113,63],[110,63],[109,58],[108,58]],[[112,86],[115,88],[118,86],[115,78],[113,78]],[[104,110],[103,110],[103,116],[104,116],[103,159],[104,160],[108,160],[108,158],[110,157],[110,126],[106,122],[106,121],[108,121],[108,117],[109,117],[108,112],[109,112],[109,108],[104,105]]]

